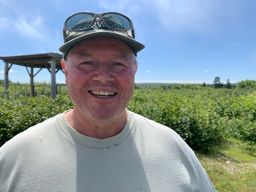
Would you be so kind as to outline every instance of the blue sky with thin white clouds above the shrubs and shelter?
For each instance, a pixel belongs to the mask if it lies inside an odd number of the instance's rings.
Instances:
[[[137,56],[136,83],[210,84],[216,76],[236,83],[256,79],[255,9],[254,0],[0,0],[0,55],[60,53],[67,17],[114,11],[133,21],[136,40],[146,46]],[[9,80],[30,77],[12,65]],[[50,80],[46,69],[34,77]],[[65,83],[62,72],[56,82]]]

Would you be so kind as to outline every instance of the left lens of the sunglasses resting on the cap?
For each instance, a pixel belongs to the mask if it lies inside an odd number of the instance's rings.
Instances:
[[[67,20],[66,27],[71,30],[86,30],[92,24],[93,18],[89,13],[79,13]]]

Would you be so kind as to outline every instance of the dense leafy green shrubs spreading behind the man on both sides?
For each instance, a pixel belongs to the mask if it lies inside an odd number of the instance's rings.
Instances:
[[[177,89],[177,88],[179,89]],[[176,131],[195,150],[207,152],[231,135],[254,153],[256,96],[244,89],[152,85],[135,89],[127,109]],[[192,88],[193,87],[193,88]],[[64,89],[64,88],[63,88]],[[40,92],[40,90],[39,90]],[[68,95],[5,96],[0,89],[0,146],[27,128],[73,108]],[[2,95],[2,96],[1,96]]]

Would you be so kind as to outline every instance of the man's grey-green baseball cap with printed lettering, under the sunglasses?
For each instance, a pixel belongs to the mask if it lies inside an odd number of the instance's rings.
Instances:
[[[119,21],[113,20],[113,18],[109,18],[112,22],[119,23]],[[79,26],[79,24],[86,23],[86,20],[81,20],[78,22],[75,26],[73,26],[73,29],[75,29],[76,26]],[[91,21],[90,21],[91,22]],[[64,44],[59,47],[59,51],[63,53],[63,58],[65,59],[67,54],[70,52],[70,50],[79,42],[95,38],[95,37],[110,37],[114,39],[119,39],[123,42],[125,42],[135,53],[137,56],[137,53],[145,48],[145,45],[140,43],[139,41],[136,41],[134,37],[132,36],[131,32],[129,31],[112,31],[109,30],[104,26],[100,18],[96,18],[93,26],[86,30],[86,31],[66,31],[66,38],[64,39]]]

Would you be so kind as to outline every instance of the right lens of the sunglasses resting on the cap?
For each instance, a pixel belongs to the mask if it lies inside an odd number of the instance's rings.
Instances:
[[[107,13],[102,15],[103,22],[113,30],[126,30],[130,28],[130,21],[119,14]]]

